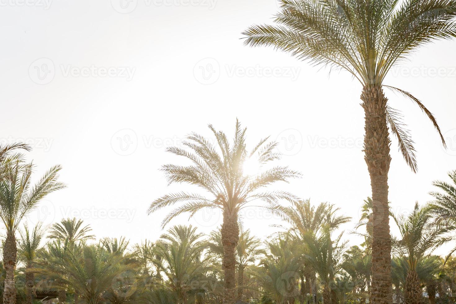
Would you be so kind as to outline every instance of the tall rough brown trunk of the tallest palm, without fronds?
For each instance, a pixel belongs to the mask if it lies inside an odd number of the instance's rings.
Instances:
[[[388,171],[390,139],[387,99],[380,87],[364,87],[364,160],[368,165],[373,201],[372,288],[370,303],[392,304],[391,237],[389,234]]]

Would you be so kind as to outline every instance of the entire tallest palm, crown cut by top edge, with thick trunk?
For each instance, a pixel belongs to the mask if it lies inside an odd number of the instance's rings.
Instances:
[[[415,102],[440,134],[434,116],[410,93],[386,86],[389,70],[436,39],[456,36],[454,0],[280,0],[277,25],[244,31],[249,46],[274,46],[300,60],[348,71],[363,87],[364,159],[372,186],[373,284],[371,302],[391,303],[391,239],[388,217],[389,129],[415,172],[415,149],[383,87]]]

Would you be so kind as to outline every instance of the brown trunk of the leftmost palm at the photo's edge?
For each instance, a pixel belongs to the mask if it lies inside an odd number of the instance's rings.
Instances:
[[[3,289],[3,304],[16,304],[16,286],[14,271],[16,270],[17,247],[16,237],[8,233],[3,247],[3,267],[5,268],[5,286]]]

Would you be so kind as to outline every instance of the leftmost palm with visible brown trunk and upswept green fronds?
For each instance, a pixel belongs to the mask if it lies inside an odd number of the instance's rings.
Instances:
[[[5,178],[0,180],[0,218],[6,228],[3,265],[6,271],[3,303],[16,303],[14,271],[16,269],[16,230],[22,219],[38,206],[42,198],[65,187],[58,182],[60,166],[52,167],[34,186],[31,174],[34,166],[20,160],[5,166]]]

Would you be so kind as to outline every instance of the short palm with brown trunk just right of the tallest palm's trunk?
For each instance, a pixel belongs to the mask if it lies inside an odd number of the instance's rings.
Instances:
[[[418,266],[433,249],[446,241],[443,235],[448,229],[445,224],[432,221],[429,206],[420,207],[418,203],[409,216],[394,216],[394,221],[402,237],[394,240],[395,251],[407,266],[405,303],[420,304],[423,291]]]

